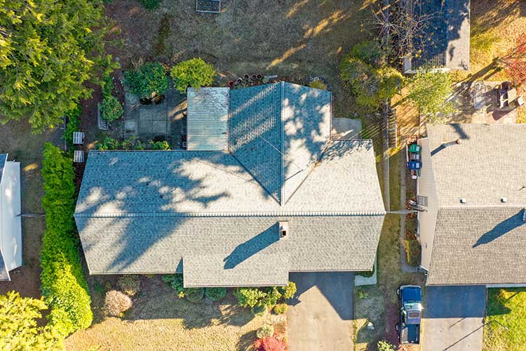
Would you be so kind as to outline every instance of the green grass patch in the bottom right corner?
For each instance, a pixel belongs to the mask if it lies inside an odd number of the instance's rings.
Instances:
[[[504,324],[509,331],[492,321]],[[526,288],[487,289],[483,351],[526,350],[525,321]]]

